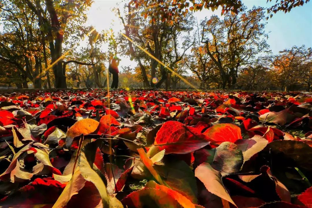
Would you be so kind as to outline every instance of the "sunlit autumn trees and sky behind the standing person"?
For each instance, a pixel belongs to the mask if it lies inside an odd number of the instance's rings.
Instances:
[[[310,90],[311,2],[220,2],[1,0],[1,86]]]

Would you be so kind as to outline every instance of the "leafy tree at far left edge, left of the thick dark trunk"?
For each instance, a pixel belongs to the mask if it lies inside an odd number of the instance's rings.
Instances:
[[[0,16],[5,20],[4,33],[0,36],[0,59],[11,63],[22,74],[24,87],[27,78],[35,88],[41,88],[42,45],[34,13],[17,1],[2,1]]]

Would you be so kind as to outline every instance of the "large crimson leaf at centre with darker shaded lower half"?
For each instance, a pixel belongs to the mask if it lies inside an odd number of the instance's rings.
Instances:
[[[209,144],[209,138],[196,128],[185,126],[178,121],[167,121],[156,134],[154,145],[166,154],[186,154]]]

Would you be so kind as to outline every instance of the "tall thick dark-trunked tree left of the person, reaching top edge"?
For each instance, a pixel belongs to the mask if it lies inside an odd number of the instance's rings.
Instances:
[[[55,87],[66,88],[66,72],[63,68],[63,43],[86,21],[85,11],[92,1],[77,0],[25,0],[37,16],[38,27],[48,41]]]

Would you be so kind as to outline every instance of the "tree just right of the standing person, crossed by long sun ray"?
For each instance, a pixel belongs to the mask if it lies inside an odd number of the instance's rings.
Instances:
[[[158,88],[167,80],[166,66],[172,69],[178,61],[182,60],[185,52],[193,44],[187,38],[193,29],[193,18],[191,14],[185,14],[175,17],[171,22],[162,21],[161,15],[149,18],[147,15],[140,15],[140,12],[146,10],[144,6],[134,7],[131,5],[130,2],[125,6],[125,8],[128,8],[128,14],[125,17],[121,17],[118,10],[119,18],[124,24],[126,38],[123,40],[127,41],[128,39],[128,45],[124,45],[123,48],[125,51],[130,51],[128,55],[132,59],[138,61],[146,86]],[[158,8],[153,7],[148,10],[153,12],[158,10]],[[127,20],[127,25],[124,19]],[[134,44],[141,51],[134,49]],[[142,49],[146,51],[142,51]],[[155,84],[152,80],[147,80],[146,69],[142,64],[143,60],[150,61],[152,78],[156,77],[157,70],[159,70],[161,79],[158,83]]]

